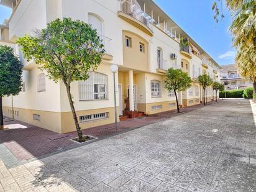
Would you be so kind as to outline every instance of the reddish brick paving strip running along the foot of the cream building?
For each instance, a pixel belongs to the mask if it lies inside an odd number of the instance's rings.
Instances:
[[[211,104],[214,104],[214,102]],[[203,105],[199,104],[196,106],[181,108],[181,112],[190,112],[200,107],[203,107]],[[126,132],[127,130],[135,129],[137,127],[147,126],[155,122],[164,121],[165,119],[178,115],[180,114],[177,114],[176,110],[167,111],[147,116],[144,119],[130,119],[127,121],[119,122],[118,130],[114,130],[114,124],[108,124],[104,126],[85,129],[83,130],[83,134],[92,135],[94,137],[102,139],[104,137],[109,137],[114,134],[120,134],[122,132]],[[60,152],[62,150],[67,150],[73,147],[80,146],[80,144],[76,144],[75,142],[70,140],[77,136],[76,132],[70,132],[68,134],[57,134],[47,129],[32,126],[21,121],[13,121],[11,119],[5,119],[4,124],[6,126],[14,125],[16,127],[23,127],[23,129],[0,130],[0,142],[4,144],[7,149],[9,149],[11,153],[14,154],[17,158],[16,161],[12,162],[4,161],[8,163],[8,167],[21,164],[19,160],[29,160],[34,157],[41,157],[49,153]],[[52,140],[53,137],[62,136],[63,138]],[[9,154],[8,156],[12,154]],[[0,158],[2,158],[3,160],[6,159],[1,157],[1,153]]]

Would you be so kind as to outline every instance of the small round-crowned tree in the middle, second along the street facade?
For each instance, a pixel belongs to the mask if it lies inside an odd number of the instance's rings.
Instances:
[[[192,80],[187,73],[180,69],[169,68],[167,70],[167,78],[165,78],[164,86],[168,91],[174,91],[176,98],[177,111],[180,112],[177,91],[185,91],[191,87]]]

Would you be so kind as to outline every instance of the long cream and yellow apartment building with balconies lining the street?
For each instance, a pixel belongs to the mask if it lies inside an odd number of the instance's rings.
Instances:
[[[181,106],[203,101],[198,75],[208,73],[219,81],[220,66],[152,0],[0,0],[12,7],[9,40],[33,34],[56,18],[71,17],[91,24],[103,40],[104,54],[98,70],[87,81],[71,84],[82,129],[114,122],[114,83],[110,70],[119,66],[116,97],[119,116],[136,117],[176,108],[173,92],[163,86],[170,67],[193,78],[190,89],[178,93]],[[18,49],[18,48],[17,48]],[[34,62],[24,65],[24,88],[13,97],[15,119],[55,132],[75,130],[63,83],[54,83]],[[214,99],[207,89],[208,101]],[[11,98],[4,98],[4,115],[11,116]]]

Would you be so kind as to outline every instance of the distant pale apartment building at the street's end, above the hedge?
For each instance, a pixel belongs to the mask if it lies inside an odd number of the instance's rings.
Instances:
[[[229,64],[222,65],[221,70],[221,83],[225,86],[225,89],[246,89],[253,87],[252,81],[246,80],[239,75],[237,65]]]

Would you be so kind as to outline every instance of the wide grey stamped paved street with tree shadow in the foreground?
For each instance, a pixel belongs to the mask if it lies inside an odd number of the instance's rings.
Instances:
[[[249,100],[229,99],[17,167],[0,161],[0,191],[256,191],[255,136]]]

